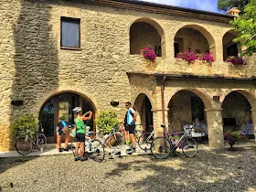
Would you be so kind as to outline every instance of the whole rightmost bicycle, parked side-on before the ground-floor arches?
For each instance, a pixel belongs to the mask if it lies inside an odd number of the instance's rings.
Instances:
[[[162,128],[165,128],[165,124],[161,125]],[[165,159],[171,152],[176,152],[176,149],[181,149],[182,153],[192,158],[197,155],[197,142],[191,137],[193,127],[187,125],[184,126],[184,132],[178,142],[175,144],[175,141],[170,137],[156,137],[154,142],[151,144],[151,154],[157,159]]]

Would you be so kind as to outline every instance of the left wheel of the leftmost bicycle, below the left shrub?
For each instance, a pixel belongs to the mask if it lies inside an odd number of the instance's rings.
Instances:
[[[28,137],[21,137],[16,140],[16,152],[20,155],[29,154],[32,150],[32,147],[32,140]]]

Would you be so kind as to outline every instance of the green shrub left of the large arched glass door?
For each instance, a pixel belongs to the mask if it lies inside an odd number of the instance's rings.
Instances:
[[[12,136],[16,139],[26,135],[26,129],[29,130],[29,136],[32,137],[38,130],[37,120],[32,114],[26,114],[18,117],[11,125]]]

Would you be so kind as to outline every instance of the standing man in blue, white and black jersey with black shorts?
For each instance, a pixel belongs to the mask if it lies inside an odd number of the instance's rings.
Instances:
[[[135,129],[135,121],[137,117],[137,112],[134,111],[132,107],[132,103],[130,101],[125,102],[125,108],[128,110],[125,114],[124,118],[124,127],[126,133],[129,133],[130,139],[132,140],[133,149],[127,151],[127,154],[132,155],[135,152],[135,138],[134,138],[134,129]],[[126,139],[126,138],[125,138]]]

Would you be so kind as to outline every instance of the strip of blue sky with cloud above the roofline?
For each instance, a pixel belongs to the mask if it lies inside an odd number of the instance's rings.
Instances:
[[[217,8],[218,0],[144,0],[148,2],[153,2],[157,4],[165,4],[165,5],[176,5],[183,6],[187,8],[200,9],[204,11],[210,12],[220,12]]]

